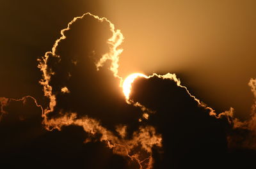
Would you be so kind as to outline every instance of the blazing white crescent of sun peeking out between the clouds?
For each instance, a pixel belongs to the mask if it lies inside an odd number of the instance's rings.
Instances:
[[[131,93],[131,88],[132,88],[132,82],[137,77],[148,78],[146,75],[143,75],[142,73],[132,73],[127,78],[125,78],[124,83],[123,83],[123,92],[124,92],[124,96],[126,99],[129,99],[129,95]]]

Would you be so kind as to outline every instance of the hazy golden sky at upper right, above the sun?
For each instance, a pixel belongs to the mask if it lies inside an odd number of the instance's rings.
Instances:
[[[250,113],[256,77],[256,1],[100,1],[125,36],[120,75],[177,73],[220,111]],[[223,94],[224,93],[224,94]]]

